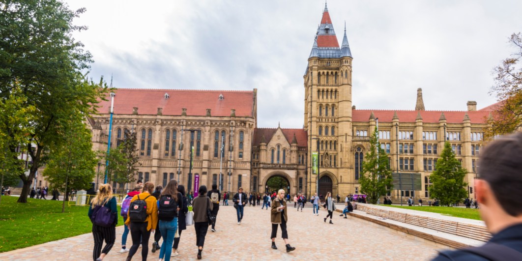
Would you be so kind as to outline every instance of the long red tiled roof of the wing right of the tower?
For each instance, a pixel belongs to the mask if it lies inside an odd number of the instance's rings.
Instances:
[[[394,110],[352,110],[353,122],[368,122],[370,114],[373,112],[379,122],[392,122]],[[417,113],[419,111],[397,111],[399,122],[416,122]],[[420,111],[422,122],[424,123],[438,123],[443,111]],[[471,123],[485,123],[489,116],[489,111],[474,111],[467,112]],[[466,111],[445,111],[447,123],[462,123]]]

